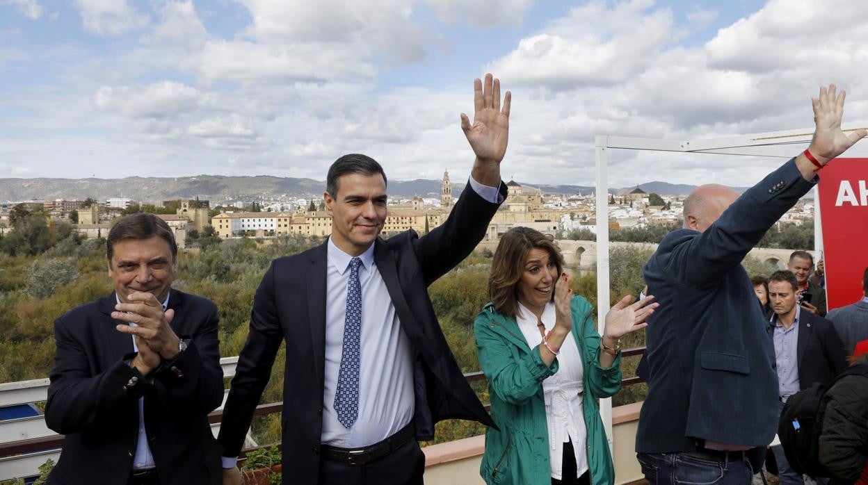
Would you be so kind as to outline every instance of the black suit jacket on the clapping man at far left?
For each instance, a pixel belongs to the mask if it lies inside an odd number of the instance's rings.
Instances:
[[[145,379],[128,364],[135,356],[133,338],[115,330],[122,323],[110,316],[115,304],[113,292],[55,321],[45,422],[66,441],[49,483],[127,483],[142,396],[148,446],[161,482],[220,483],[220,446],[207,422],[207,413],[223,398],[217,307],[172,290],[172,328],[192,342],[153,379]],[[130,385],[132,377],[137,382]]]

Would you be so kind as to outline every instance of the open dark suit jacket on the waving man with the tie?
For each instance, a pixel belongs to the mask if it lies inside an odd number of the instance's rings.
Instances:
[[[506,190],[500,186],[503,197]],[[419,238],[407,231],[377,239],[374,261],[401,327],[413,346],[419,440],[434,436],[447,418],[493,426],[449,350],[428,297],[428,285],[467,257],[483,239],[498,204],[468,184],[442,226]],[[325,386],[324,243],[275,259],[253,299],[250,333],[241,351],[220,424],[220,444],[237,456],[260,401],[281,339],[286,341],[283,386],[283,467],[293,483],[316,483]],[[285,481],[286,482],[286,481]]]

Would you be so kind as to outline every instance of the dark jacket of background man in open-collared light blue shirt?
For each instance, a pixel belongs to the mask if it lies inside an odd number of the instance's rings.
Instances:
[[[769,335],[773,335],[773,324],[770,324]],[[835,377],[847,368],[847,353],[835,325],[804,308],[799,313],[796,363],[799,390],[806,390],[813,383],[821,383],[828,389]]]

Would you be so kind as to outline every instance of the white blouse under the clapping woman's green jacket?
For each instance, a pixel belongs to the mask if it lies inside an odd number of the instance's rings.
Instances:
[[[555,326],[555,304],[549,302],[542,310],[542,324],[546,331]],[[542,335],[536,315],[518,304],[516,315],[518,328],[528,341],[531,349],[542,342]],[[588,457],[585,455],[587,429],[585,428],[584,404],[582,403],[582,381],[584,366],[582,353],[575,344],[573,332],[567,334],[557,357],[557,372],[542,381],[545,396],[545,416],[549,424],[549,456],[551,477],[562,480],[563,443],[572,442],[575,455],[576,477],[588,470]]]

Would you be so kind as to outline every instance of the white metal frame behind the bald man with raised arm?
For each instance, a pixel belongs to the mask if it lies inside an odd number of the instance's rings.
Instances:
[[[844,131],[854,131],[864,128],[865,123],[858,127],[843,128]],[[800,149],[789,147],[793,144],[806,144],[811,141],[813,128],[776,131],[761,134],[744,134],[726,138],[711,138],[705,140],[659,140],[654,138],[630,138],[625,136],[610,136],[598,134],[595,137],[596,161],[596,219],[597,219],[597,328],[602,335],[604,327],[603,316],[609,310],[609,265],[608,265],[608,150],[618,148],[625,150],[650,150],[658,152],[681,152],[687,154],[728,154],[775,158],[792,158],[799,154]],[[819,220],[819,195],[814,187],[814,249],[822,249],[821,224]],[[612,399],[600,400],[600,415],[608,436],[609,448],[613,445],[612,436]]]

